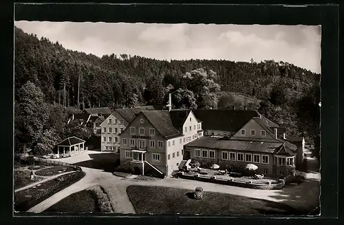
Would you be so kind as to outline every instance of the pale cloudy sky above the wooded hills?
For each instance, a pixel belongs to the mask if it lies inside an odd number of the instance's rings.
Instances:
[[[171,59],[275,60],[321,72],[321,27],[16,21],[17,28],[96,56],[130,54]]]

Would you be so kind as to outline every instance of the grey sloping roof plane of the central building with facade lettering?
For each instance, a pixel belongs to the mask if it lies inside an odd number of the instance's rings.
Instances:
[[[169,111],[148,110],[141,112],[153,127],[166,139],[183,136],[174,126]]]

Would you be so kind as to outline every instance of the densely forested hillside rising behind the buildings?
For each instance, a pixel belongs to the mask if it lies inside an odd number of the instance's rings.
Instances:
[[[246,103],[237,103],[227,94],[234,92],[262,100],[260,105],[252,103],[248,107],[259,108],[279,125],[289,127],[291,134],[305,133],[308,140],[313,140],[316,132],[316,84],[320,75],[290,63],[170,62],[127,54],[100,58],[67,50],[58,42],[26,34],[19,28],[15,29],[14,55],[16,103],[21,96],[18,90],[28,81],[43,92],[48,105],[77,107],[80,79],[80,109],[166,105],[169,93],[173,93],[175,107],[244,107]],[[308,122],[301,125],[304,118]],[[312,134],[308,131],[310,120]]]

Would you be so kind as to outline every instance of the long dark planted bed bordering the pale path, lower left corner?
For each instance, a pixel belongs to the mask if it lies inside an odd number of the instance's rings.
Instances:
[[[69,173],[61,175],[60,177],[43,182],[42,184],[37,184],[30,189],[25,189],[14,193],[15,211],[28,211],[30,208],[43,202],[48,197],[51,197],[55,193],[62,191],[78,182],[81,178],[85,176],[84,172]]]

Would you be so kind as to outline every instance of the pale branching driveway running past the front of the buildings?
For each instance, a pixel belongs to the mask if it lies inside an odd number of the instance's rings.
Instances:
[[[46,208],[62,200],[63,197],[80,191],[81,188],[87,189],[87,187],[93,186],[94,184],[100,184],[105,188],[116,213],[135,213],[126,191],[127,186],[131,184],[171,186],[180,189],[195,189],[196,186],[202,186],[204,191],[230,193],[273,202],[283,202],[301,209],[319,206],[320,183],[319,180],[315,179],[308,179],[303,184],[297,186],[286,186],[282,190],[252,190],[237,186],[226,186],[176,178],[165,178],[164,180],[155,181],[133,180],[117,177],[108,171],[111,170],[110,168],[114,165],[116,158],[118,158],[118,155],[114,153],[85,151],[70,158],[57,159],[58,161],[78,164],[85,171],[85,178],[41,202],[41,204],[32,208],[31,211],[44,211]]]

